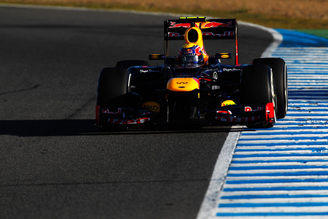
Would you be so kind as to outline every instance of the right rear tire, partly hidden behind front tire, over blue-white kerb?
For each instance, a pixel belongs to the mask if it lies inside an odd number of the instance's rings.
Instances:
[[[282,119],[288,109],[287,67],[283,59],[262,58],[254,59],[253,64],[267,64],[273,72],[277,97],[277,119]]]

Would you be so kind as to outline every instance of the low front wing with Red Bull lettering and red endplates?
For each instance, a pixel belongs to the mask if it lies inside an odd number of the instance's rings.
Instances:
[[[163,117],[167,115],[166,117]],[[168,112],[158,113],[142,107],[96,106],[97,126],[143,126],[147,124],[176,122],[207,122],[218,125],[274,125],[276,123],[273,103],[227,105],[208,111],[204,116],[190,121],[172,121]]]

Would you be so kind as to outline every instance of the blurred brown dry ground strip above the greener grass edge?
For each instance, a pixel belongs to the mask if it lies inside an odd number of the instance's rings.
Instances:
[[[220,11],[247,11],[249,13],[328,20],[327,0],[10,0],[7,2],[26,2],[27,4],[40,2],[55,5],[76,3],[86,6],[98,3],[117,6],[139,5],[145,8],[180,8],[184,10],[193,10],[195,8],[203,10],[217,9]]]

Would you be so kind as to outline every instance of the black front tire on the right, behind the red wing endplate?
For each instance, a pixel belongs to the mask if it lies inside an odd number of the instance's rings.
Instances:
[[[275,84],[271,68],[266,64],[245,66],[240,75],[240,96],[243,103],[273,103],[276,115]],[[271,128],[272,124],[263,126],[246,125],[247,128]]]

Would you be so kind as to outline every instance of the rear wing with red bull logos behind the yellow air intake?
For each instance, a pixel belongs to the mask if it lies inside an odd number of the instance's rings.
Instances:
[[[235,39],[236,64],[238,64],[237,19],[209,19],[206,17],[180,17],[164,21],[165,56],[168,56],[168,41],[184,39],[189,27],[199,27],[203,39]]]

